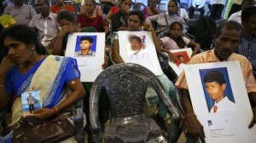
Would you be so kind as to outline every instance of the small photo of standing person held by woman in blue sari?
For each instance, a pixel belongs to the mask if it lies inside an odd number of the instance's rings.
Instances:
[[[32,114],[34,110],[42,108],[40,91],[30,91],[21,94],[23,117]]]

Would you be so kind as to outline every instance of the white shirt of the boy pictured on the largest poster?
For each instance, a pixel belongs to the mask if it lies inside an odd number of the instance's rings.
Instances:
[[[236,104],[230,101],[226,96],[224,97],[224,99],[220,100],[218,103],[215,102],[214,106],[218,107],[217,112],[236,111]],[[212,106],[211,113],[215,113],[213,112],[214,106]]]

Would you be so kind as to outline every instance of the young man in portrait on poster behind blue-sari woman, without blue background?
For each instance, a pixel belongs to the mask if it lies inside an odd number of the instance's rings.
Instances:
[[[80,37],[79,51],[75,52],[76,57],[95,56],[95,51],[91,49],[93,46],[92,37]]]

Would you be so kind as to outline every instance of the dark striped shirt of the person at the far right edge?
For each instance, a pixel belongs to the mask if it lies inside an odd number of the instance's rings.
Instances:
[[[247,57],[253,66],[253,74],[256,74],[256,34],[253,35],[252,40],[249,40],[245,35],[241,37],[238,54]]]

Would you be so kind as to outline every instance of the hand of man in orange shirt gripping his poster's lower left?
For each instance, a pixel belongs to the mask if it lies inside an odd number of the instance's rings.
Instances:
[[[184,134],[187,137],[193,138],[195,140],[200,138],[201,142],[206,142],[203,126],[195,116],[189,116],[186,118],[184,128]]]

